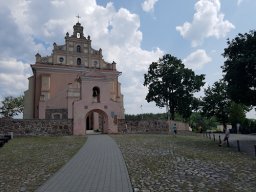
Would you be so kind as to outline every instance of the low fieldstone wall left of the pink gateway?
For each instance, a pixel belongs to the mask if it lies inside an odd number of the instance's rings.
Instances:
[[[52,135],[73,134],[72,120],[8,119],[0,118],[0,134],[13,132],[14,135]]]

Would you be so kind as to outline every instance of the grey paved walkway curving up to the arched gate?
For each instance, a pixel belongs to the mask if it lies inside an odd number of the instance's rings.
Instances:
[[[114,140],[89,135],[82,149],[37,192],[132,192],[132,186]]]

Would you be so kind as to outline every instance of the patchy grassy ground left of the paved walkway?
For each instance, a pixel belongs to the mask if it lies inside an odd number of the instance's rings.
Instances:
[[[0,148],[0,191],[34,191],[85,143],[85,137],[17,137]]]

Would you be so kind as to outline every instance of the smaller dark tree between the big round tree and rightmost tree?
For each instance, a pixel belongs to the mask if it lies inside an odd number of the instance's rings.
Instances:
[[[229,110],[231,100],[227,95],[227,84],[219,80],[204,90],[205,96],[202,102],[203,114],[207,117],[215,116],[226,128],[229,122]]]

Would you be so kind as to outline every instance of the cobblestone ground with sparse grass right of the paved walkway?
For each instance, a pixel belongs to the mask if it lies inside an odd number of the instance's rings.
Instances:
[[[135,192],[255,191],[256,159],[199,136],[114,135]]]

